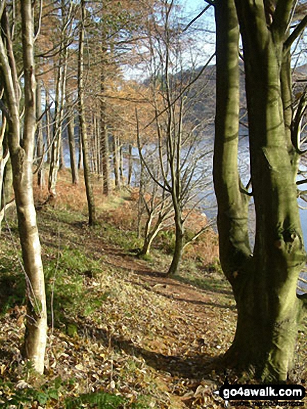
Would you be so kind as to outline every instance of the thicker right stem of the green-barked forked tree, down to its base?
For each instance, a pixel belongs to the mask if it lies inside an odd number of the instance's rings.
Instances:
[[[256,213],[254,268],[258,281],[254,291],[259,295],[254,308],[261,318],[260,337],[263,335],[265,347],[261,351],[262,376],[285,380],[292,367],[301,307],[296,296],[297,278],[305,261],[281,99],[286,27],[278,26],[277,20],[277,26],[269,30],[260,20],[262,10],[242,3],[237,1],[236,5],[244,41]],[[251,26],[257,27],[257,40]]]

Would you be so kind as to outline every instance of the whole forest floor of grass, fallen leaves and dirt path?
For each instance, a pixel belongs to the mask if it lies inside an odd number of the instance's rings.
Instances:
[[[215,233],[207,231],[189,247],[180,275],[168,278],[171,231],[162,231],[150,256],[134,254],[141,243],[134,192],[109,199],[96,192],[99,221],[90,228],[82,186],[71,186],[67,176],[60,183],[52,206],[42,206],[45,192],[36,192],[49,311],[42,377],[20,353],[25,280],[13,213],[3,223],[0,407],[225,407],[214,391],[226,375],[231,383],[238,380],[221,364],[236,311],[217,261]],[[305,321],[292,383],[307,378],[306,330]]]

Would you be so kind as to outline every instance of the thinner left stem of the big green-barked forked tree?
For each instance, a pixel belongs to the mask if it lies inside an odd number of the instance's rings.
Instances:
[[[223,272],[235,285],[233,275],[249,263],[249,196],[242,189],[237,168],[239,142],[239,26],[234,0],[219,2],[217,22],[217,106],[213,160],[217,196],[217,228]],[[235,274],[236,275],[236,274]]]

